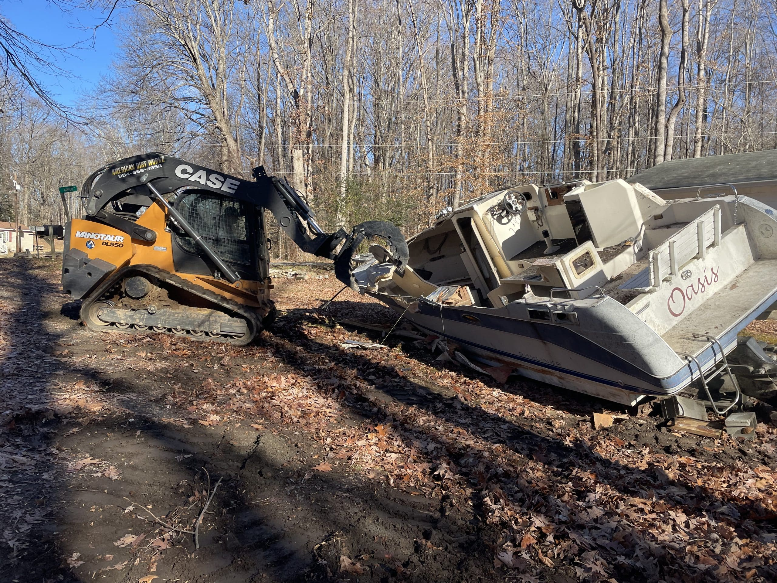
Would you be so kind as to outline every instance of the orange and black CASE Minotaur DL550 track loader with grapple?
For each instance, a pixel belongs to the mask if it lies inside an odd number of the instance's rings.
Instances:
[[[301,250],[335,262],[355,286],[351,257],[380,239],[401,269],[407,245],[390,223],[327,234],[286,180],[254,180],[152,152],[97,170],[84,183],[86,215],[65,232],[62,287],[82,299],[94,330],[172,333],[248,344],[274,318],[264,211]]]

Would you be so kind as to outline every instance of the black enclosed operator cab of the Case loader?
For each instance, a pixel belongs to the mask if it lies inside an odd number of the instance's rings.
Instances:
[[[205,190],[184,190],[173,203],[212,250],[242,279],[267,278],[267,236],[264,211],[239,199]],[[176,271],[214,274],[214,266],[183,229],[172,228],[172,260]]]

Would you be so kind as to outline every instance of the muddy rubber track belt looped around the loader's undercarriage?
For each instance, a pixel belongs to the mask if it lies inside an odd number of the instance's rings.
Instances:
[[[226,337],[226,336],[210,337],[210,336],[194,336],[193,334],[190,334],[190,333],[173,334],[170,332],[153,332],[153,331],[149,332],[147,330],[134,330],[132,328],[118,328],[117,326],[92,326],[89,323],[89,317],[86,316],[86,314],[89,313],[88,310],[91,307],[91,305],[95,302],[98,302],[99,300],[109,299],[107,296],[111,295],[110,292],[113,290],[113,286],[117,285],[122,279],[124,279],[128,273],[133,273],[133,272],[148,274],[152,278],[156,278],[159,281],[165,282],[166,284],[173,285],[176,288],[183,289],[184,291],[189,292],[193,295],[198,295],[200,296],[200,298],[207,299],[208,302],[211,302],[220,306],[222,309],[225,310],[225,312],[231,312],[233,314],[241,316],[242,318],[245,318],[251,333],[249,333],[246,337],[242,337],[242,338],[233,338],[233,337]],[[272,308],[270,309],[270,314],[273,311],[274,311],[274,306],[272,306]],[[169,271],[164,271],[162,269],[159,269],[159,267],[155,267],[153,265],[147,265],[147,264],[128,265],[127,267],[122,267],[120,270],[114,271],[113,274],[111,274],[106,279],[106,281],[103,281],[103,283],[100,284],[99,287],[96,288],[94,292],[89,294],[89,297],[84,300],[84,302],[81,305],[80,316],[81,316],[81,321],[85,324],[85,326],[89,327],[90,330],[97,330],[99,332],[124,332],[124,333],[145,334],[145,335],[166,333],[169,336],[185,337],[185,338],[191,338],[192,340],[204,340],[207,342],[225,342],[228,344],[237,344],[238,346],[249,344],[262,331],[261,320],[256,316],[255,313],[253,313],[245,305],[239,304],[238,302],[235,302],[231,299],[224,298],[221,295],[211,292],[210,290],[207,290],[205,288],[202,288],[199,285],[193,284],[190,281],[186,281],[183,278],[179,278],[177,275],[173,275],[169,273]]]

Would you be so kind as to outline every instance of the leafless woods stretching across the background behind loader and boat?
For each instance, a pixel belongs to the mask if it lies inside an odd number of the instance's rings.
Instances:
[[[12,172],[19,220],[61,222],[57,186],[152,150],[245,177],[263,164],[289,176],[329,229],[387,218],[412,233],[439,208],[510,184],[777,148],[775,8],[128,2],[120,53],[78,123],[9,73],[0,220]]]

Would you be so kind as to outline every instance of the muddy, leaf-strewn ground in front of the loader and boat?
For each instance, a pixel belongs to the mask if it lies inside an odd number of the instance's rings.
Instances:
[[[333,318],[395,316],[350,290],[315,313],[340,285],[298,271],[230,347],[86,330],[57,265],[0,260],[0,581],[777,579],[775,428],[348,350],[380,337]]]

